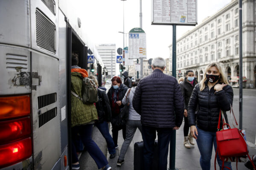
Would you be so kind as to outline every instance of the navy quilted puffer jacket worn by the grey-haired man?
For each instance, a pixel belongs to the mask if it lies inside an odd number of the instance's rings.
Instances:
[[[175,77],[155,69],[140,80],[132,105],[141,115],[141,123],[151,127],[180,127],[183,120],[183,96]]]

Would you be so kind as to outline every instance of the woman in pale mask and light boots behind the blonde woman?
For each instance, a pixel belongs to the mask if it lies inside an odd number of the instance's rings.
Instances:
[[[195,145],[193,142],[193,137],[191,136],[191,133],[189,133],[189,122],[188,122],[188,105],[189,105],[189,99],[192,94],[193,88],[197,84],[197,80],[195,79],[194,71],[187,70],[186,71],[186,77],[183,82],[180,83],[180,89],[184,98],[184,127],[183,127],[183,133],[184,133],[184,146],[186,148],[190,148],[190,144]],[[188,136],[189,134],[189,136]],[[190,144],[189,144],[190,143]]]

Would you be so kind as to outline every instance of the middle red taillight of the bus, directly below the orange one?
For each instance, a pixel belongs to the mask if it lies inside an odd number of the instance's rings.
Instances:
[[[0,144],[7,144],[31,136],[30,117],[0,123]]]

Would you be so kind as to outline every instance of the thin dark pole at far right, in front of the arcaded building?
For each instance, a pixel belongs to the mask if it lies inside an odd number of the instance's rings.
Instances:
[[[242,0],[239,0],[239,128],[243,126],[243,40],[242,40]]]

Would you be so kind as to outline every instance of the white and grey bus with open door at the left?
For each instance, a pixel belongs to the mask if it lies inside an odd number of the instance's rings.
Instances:
[[[71,3],[0,0],[0,169],[71,169],[71,53],[104,68]]]

